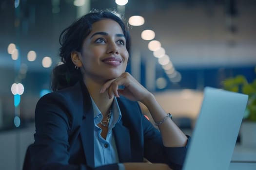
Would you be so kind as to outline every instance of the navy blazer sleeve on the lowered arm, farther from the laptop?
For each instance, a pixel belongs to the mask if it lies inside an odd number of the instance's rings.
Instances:
[[[118,164],[98,168],[69,164],[69,132],[74,118],[60,93],[43,96],[36,106],[35,142],[29,148],[32,170],[118,170]]]

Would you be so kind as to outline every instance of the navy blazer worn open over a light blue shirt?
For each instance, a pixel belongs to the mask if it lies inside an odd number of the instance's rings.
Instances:
[[[138,102],[118,98],[122,119],[113,128],[120,163],[166,163],[181,169],[187,147],[164,147],[159,131],[142,115]],[[94,118],[83,83],[43,96],[36,106],[35,142],[29,148],[32,170],[118,170],[94,168]]]

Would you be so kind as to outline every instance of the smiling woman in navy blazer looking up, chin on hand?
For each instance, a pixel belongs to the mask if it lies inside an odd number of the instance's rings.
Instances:
[[[121,17],[91,12],[61,33],[60,44],[63,64],[53,71],[55,92],[36,107],[32,169],[181,169],[188,138],[152,93],[125,72],[130,37]]]

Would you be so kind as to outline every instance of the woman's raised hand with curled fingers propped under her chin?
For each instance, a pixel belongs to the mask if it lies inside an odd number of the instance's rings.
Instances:
[[[119,85],[123,85],[124,89],[118,89]],[[118,78],[106,82],[102,86],[100,93],[104,93],[105,91],[108,92],[110,99],[113,97],[113,95],[116,97],[123,95],[131,101],[140,101],[142,103],[145,99],[152,95],[128,72],[124,72]]]

